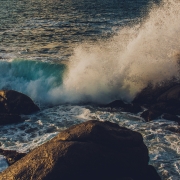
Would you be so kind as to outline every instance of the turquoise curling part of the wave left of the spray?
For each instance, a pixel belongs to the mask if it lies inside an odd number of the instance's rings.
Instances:
[[[65,64],[35,60],[0,61],[0,89],[13,89],[37,102],[48,103],[49,91],[60,87]]]

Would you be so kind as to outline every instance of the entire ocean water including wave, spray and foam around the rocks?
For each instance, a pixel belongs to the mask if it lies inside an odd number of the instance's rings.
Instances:
[[[179,10],[179,0],[0,0],[0,89],[41,109],[0,126],[0,148],[29,152],[74,124],[107,120],[140,132],[162,180],[179,180],[176,122],[98,106],[179,80]]]

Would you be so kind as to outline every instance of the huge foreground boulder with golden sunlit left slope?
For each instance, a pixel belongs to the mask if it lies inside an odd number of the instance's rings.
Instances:
[[[8,180],[160,180],[140,133],[88,121],[61,132],[0,174]]]

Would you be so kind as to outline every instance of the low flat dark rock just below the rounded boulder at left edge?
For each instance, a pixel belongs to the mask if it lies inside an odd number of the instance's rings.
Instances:
[[[23,122],[21,116],[16,114],[0,114],[0,125]]]

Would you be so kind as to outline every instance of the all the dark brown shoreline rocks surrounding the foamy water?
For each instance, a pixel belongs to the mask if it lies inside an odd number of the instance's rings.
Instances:
[[[116,100],[101,107],[140,113],[147,122],[162,117],[180,124],[180,84],[149,84],[130,104]],[[21,114],[39,110],[22,93],[0,91],[0,125],[23,122]],[[168,130],[180,133],[180,128]],[[160,179],[154,167],[148,165],[148,150],[141,134],[110,122],[88,121],[72,126],[28,155],[3,149],[0,154],[10,165],[0,173],[2,180]]]

